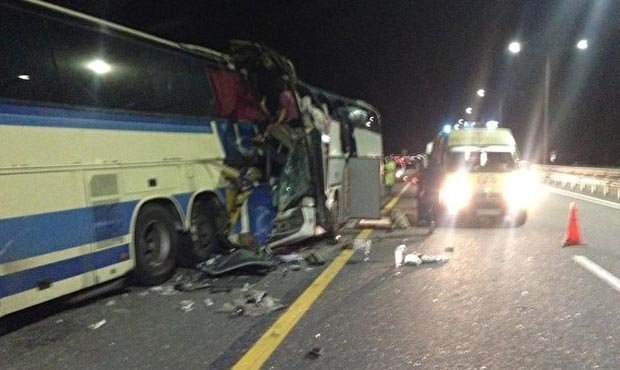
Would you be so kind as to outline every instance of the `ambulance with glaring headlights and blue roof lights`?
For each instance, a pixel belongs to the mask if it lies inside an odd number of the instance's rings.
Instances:
[[[520,162],[509,129],[444,132],[433,145],[432,160],[441,168],[438,196],[444,214],[525,223],[537,179]]]

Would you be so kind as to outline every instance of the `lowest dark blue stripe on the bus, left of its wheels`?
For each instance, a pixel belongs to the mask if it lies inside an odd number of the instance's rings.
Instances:
[[[54,282],[126,261],[128,256],[129,245],[123,244],[89,255],[0,276],[0,298],[37,288],[44,282],[53,286]]]

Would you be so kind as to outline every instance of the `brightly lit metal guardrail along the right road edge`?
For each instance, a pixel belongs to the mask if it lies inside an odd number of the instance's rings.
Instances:
[[[533,165],[548,185],[620,202],[620,169]]]

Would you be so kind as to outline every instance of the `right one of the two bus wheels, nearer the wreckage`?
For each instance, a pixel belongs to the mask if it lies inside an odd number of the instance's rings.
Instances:
[[[195,266],[206,261],[218,245],[218,229],[226,227],[222,222],[223,212],[219,202],[213,199],[197,199],[191,214],[191,241],[184,243],[179,253],[179,262]],[[225,221],[224,221],[225,222]]]

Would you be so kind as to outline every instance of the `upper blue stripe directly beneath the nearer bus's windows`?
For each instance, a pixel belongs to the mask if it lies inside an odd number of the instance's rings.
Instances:
[[[211,133],[211,119],[0,104],[0,125]]]

